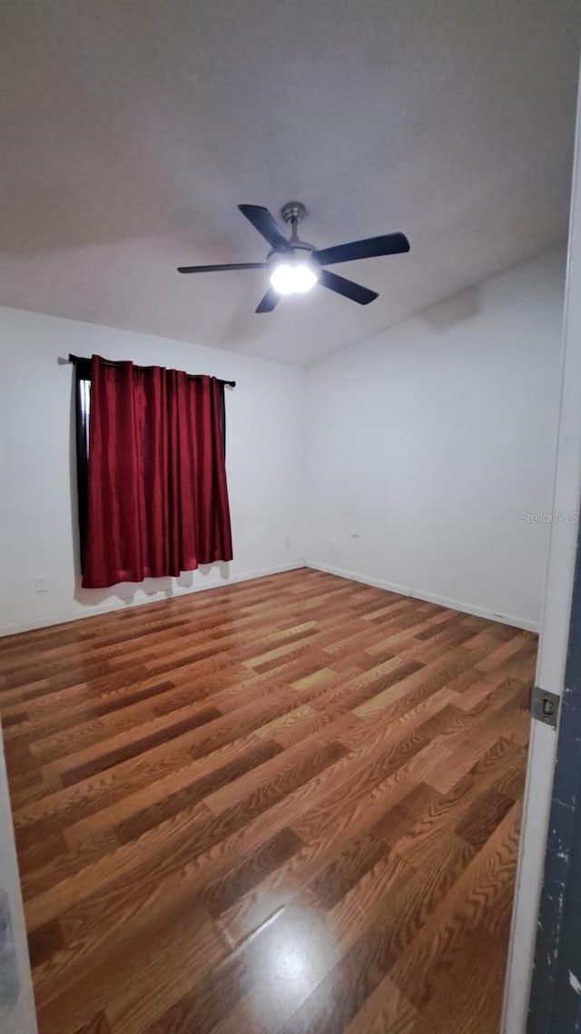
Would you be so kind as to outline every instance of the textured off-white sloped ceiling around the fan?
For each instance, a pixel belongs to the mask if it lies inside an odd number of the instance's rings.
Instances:
[[[19,0],[0,13],[0,302],[311,363],[562,242],[577,0]],[[254,315],[239,202],[411,252]]]

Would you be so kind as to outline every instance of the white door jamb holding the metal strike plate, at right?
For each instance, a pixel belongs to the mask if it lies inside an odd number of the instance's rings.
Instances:
[[[567,260],[567,280],[563,313],[562,362],[561,362],[561,395],[558,422],[558,439],[553,485],[553,513],[555,518],[551,524],[549,557],[545,582],[543,616],[541,621],[541,638],[537,664],[537,685],[561,698],[561,712],[564,721],[560,723],[562,739],[559,734],[559,757],[561,751],[563,764],[571,755],[569,742],[570,708],[574,704],[573,692],[563,695],[565,685],[574,687],[579,683],[579,676],[568,666],[568,648],[570,627],[574,633],[579,628],[577,612],[573,611],[574,574],[578,548],[578,533],[580,530],[574,515],[578,514],[581,499],[581,120],[580,96],[577,99],[577,123],[575,131],[575,159],[573,164],[573,184],[570,215],[570,234]],[[561,520],[560,515],[570,515],[569,520]],[[581,595],[579,579],[575,581],[575,591]],[[571,664],[581,661],[572,652]],[[565,678],[567,669],[567,678]],[[543,993],[547,996],[548,987],[542,987],[542,979],[547,979],[539,967],[534,968],[538,919],[541,905],[541,888],[547,859],[547,878],[550,875],[551,861],[547,857],[547,842],[549,817],[552,808],[553,777],[557,755],[557,735],[555,730],[541,722],[531,722],[531,737],[528,754],[528,766],[523,808],[523,824],[520,843],[519,864],[517,871],[517,886],[507,983],[504,987],[504,1008],[502,1014],[502,1034],[525,1034],[529,1001],[534,1011],[538,1011],[538,1000]],[[571,765],[571,759],[569,760]],[[560,786],[555,789],[560,790]],[[563,788],[564,789],[564,788]],[[577,798],[578,803],[581,801]],[[581,814],[579,815],[581,819]],[[549,845],[553,852],[554,842]],[[561,849],[559,848],[559,851]],[[557,851],[558,853],[558,851]],[[563,852],[561,852],[563,853]],[[563,859],[560,859],[561,861]],[[570,877],[574,874],[574,858],[569,855]],[[562,877],[562,872],[560,877]],[[555,876],[556,878],[556,876]],[[547,883],[549,889],[549,883]],[[543,906],[545,907],[545,905]],[[543,921],[543,917],[541,917]],[[557,941],[552,949],[558,950]],[[547,944],[544,944],[545,950]],[[555,968],[555,981],[556,969]],[[534,975],[533,975],[534,969]],[[581,974],[579,975],[581,979]],[[555,987],[557,983],[555,982]],[[558,983],[560,987],[560,983]],[[532,994],[532,998],[531,998]],[[581,999],[580,999],[581,1001]],[[545,1014],[545,1021],[547,1021]],[[541,1014],[531,1023],[541,1023]],[[559,1034],[565,1034],[565,1029],[558,1028]],[[528,1034],[549,1034],[551,1027],[530,1027]]]

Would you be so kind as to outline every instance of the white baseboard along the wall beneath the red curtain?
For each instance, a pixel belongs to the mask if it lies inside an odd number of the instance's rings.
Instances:
[[[268,575],[278,575],[284,571],[297,571],[305,566],[305,560],[299,559],[293,564],[281,564],[258,571],[248,571],[241,575],[232,575],[230,578],[208,580],[204,584],[175,585],[172,589],[158,589],[139,599],[117,596],[94,606],[83,607],[82,604],[79,604],[78,607],[70,607],[66,610],[55,611],[51,614],[41,614],[37,617],[17,621],[13,625],[2,626],[0,628],[0,637],[18,635],[19,632],[30,632],[33,629],[48,629],[53,625],[64,625],[66,621],[83,620],[85,617],[96,617],[98,614],[109,614],[115,610],[126,610],[127,607],[143,607],[151,603],[160,603],[163,600],[176,599],[180,596],[189,596],[192,592],[206,592],[211,588],[222,588],[226,585],[234,585],[237,582],[253,581],[254,578],[267,578]]]

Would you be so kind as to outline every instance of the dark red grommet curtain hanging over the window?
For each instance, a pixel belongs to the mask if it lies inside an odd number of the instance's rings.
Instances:
[[[215,377],[92,357],[86,588],[232,559],[222,393]]]

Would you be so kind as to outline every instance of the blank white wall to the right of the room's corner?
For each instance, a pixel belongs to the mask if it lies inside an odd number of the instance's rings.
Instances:
[[[551,253],[308,370],[307,561],[536,629],[564,256]],[[357,538],[356,538],[357,537]]]

